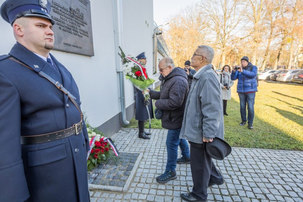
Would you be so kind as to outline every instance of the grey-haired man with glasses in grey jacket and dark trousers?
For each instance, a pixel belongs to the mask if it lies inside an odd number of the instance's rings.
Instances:
[[[185,201],[206,201],[207,187],[224,183],[223,176],[205,149],[205,144],[214,138],[224,139],[221,84],[211,65],[214,55],[211,47],[201,45],[191,57],[191,66],[197,73],[186,101],[180,138],[191,144],[190,165],[194,187],[192,192],[181,194]]]

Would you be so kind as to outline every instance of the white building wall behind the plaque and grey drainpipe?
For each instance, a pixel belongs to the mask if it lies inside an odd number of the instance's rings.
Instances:
[[[5,0],[0,0],[0,5]],[[51,51],[72,73],[81,96],[82,111],[90,124],[100,126],[121,112],[119,80],[115,67],[115,41],[112,0],[91,0],[92,32],[95,56],[88,57]],[[138,55],[146,52],[147,71],[152,78],[152,0],[128,0],[123,3],[124,52]],[[0,19],[0,55],[15,44],[12,27]],[[55,33],[56,34],[56,33]],[[133,87],[125,80],[126,107],[134,103]]]

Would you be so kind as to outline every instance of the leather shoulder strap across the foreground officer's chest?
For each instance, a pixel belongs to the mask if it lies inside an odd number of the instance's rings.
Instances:
[[[24,65],[25,67],[31,69],[32,71],[34,71],[32,68],[28,67],[27,65],[25,65],[23,62],[17,60],[16,58],[14,57],[9,57],[9,59],[15,61],[15,62],[18,62],[19,64],[21,65]],[[81,114],[81,120],[83,119],[83,113],[80,109],[80,106],[77,104],[77,102],[75,101],[75,96],[73,96],[68,90],[66,90],[66,88],[63,87],[62,84],[60,84],[58,81],[55,81],[52,77],[50,77],[49,75],[47,75],[45,72],[43,71],[39,71],[38,72],[39,75],[41,75],[42,77],[46,78],[48,81],[50,81],[52,84],[54,84],[59,90],[61,90],[63,93],[65,93],[68,98],[72,101],[73,104],[75,104],[76,108],[80,111],[80,114]]]

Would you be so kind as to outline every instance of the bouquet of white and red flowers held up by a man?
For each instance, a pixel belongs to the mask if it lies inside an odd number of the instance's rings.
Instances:
[[[128,81],[130,81],[136,88],[144,92],[145,100],[149,100],[150,96],[147,89],[152,87],[155,82],[154,79],[148,78],[145,65],[138,60],[134,55],[125,55],[119,46],[120,53],[118,55],[121,58],[123,64],[123,73]]]

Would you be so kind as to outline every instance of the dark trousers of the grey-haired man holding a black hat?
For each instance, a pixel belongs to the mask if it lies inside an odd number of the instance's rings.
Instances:
[[[205,144],[190,143],[190,167],[194,183],[192,196],[197,200],[207,200],[208,183],[223,180],[212,158],[207,154]]]

